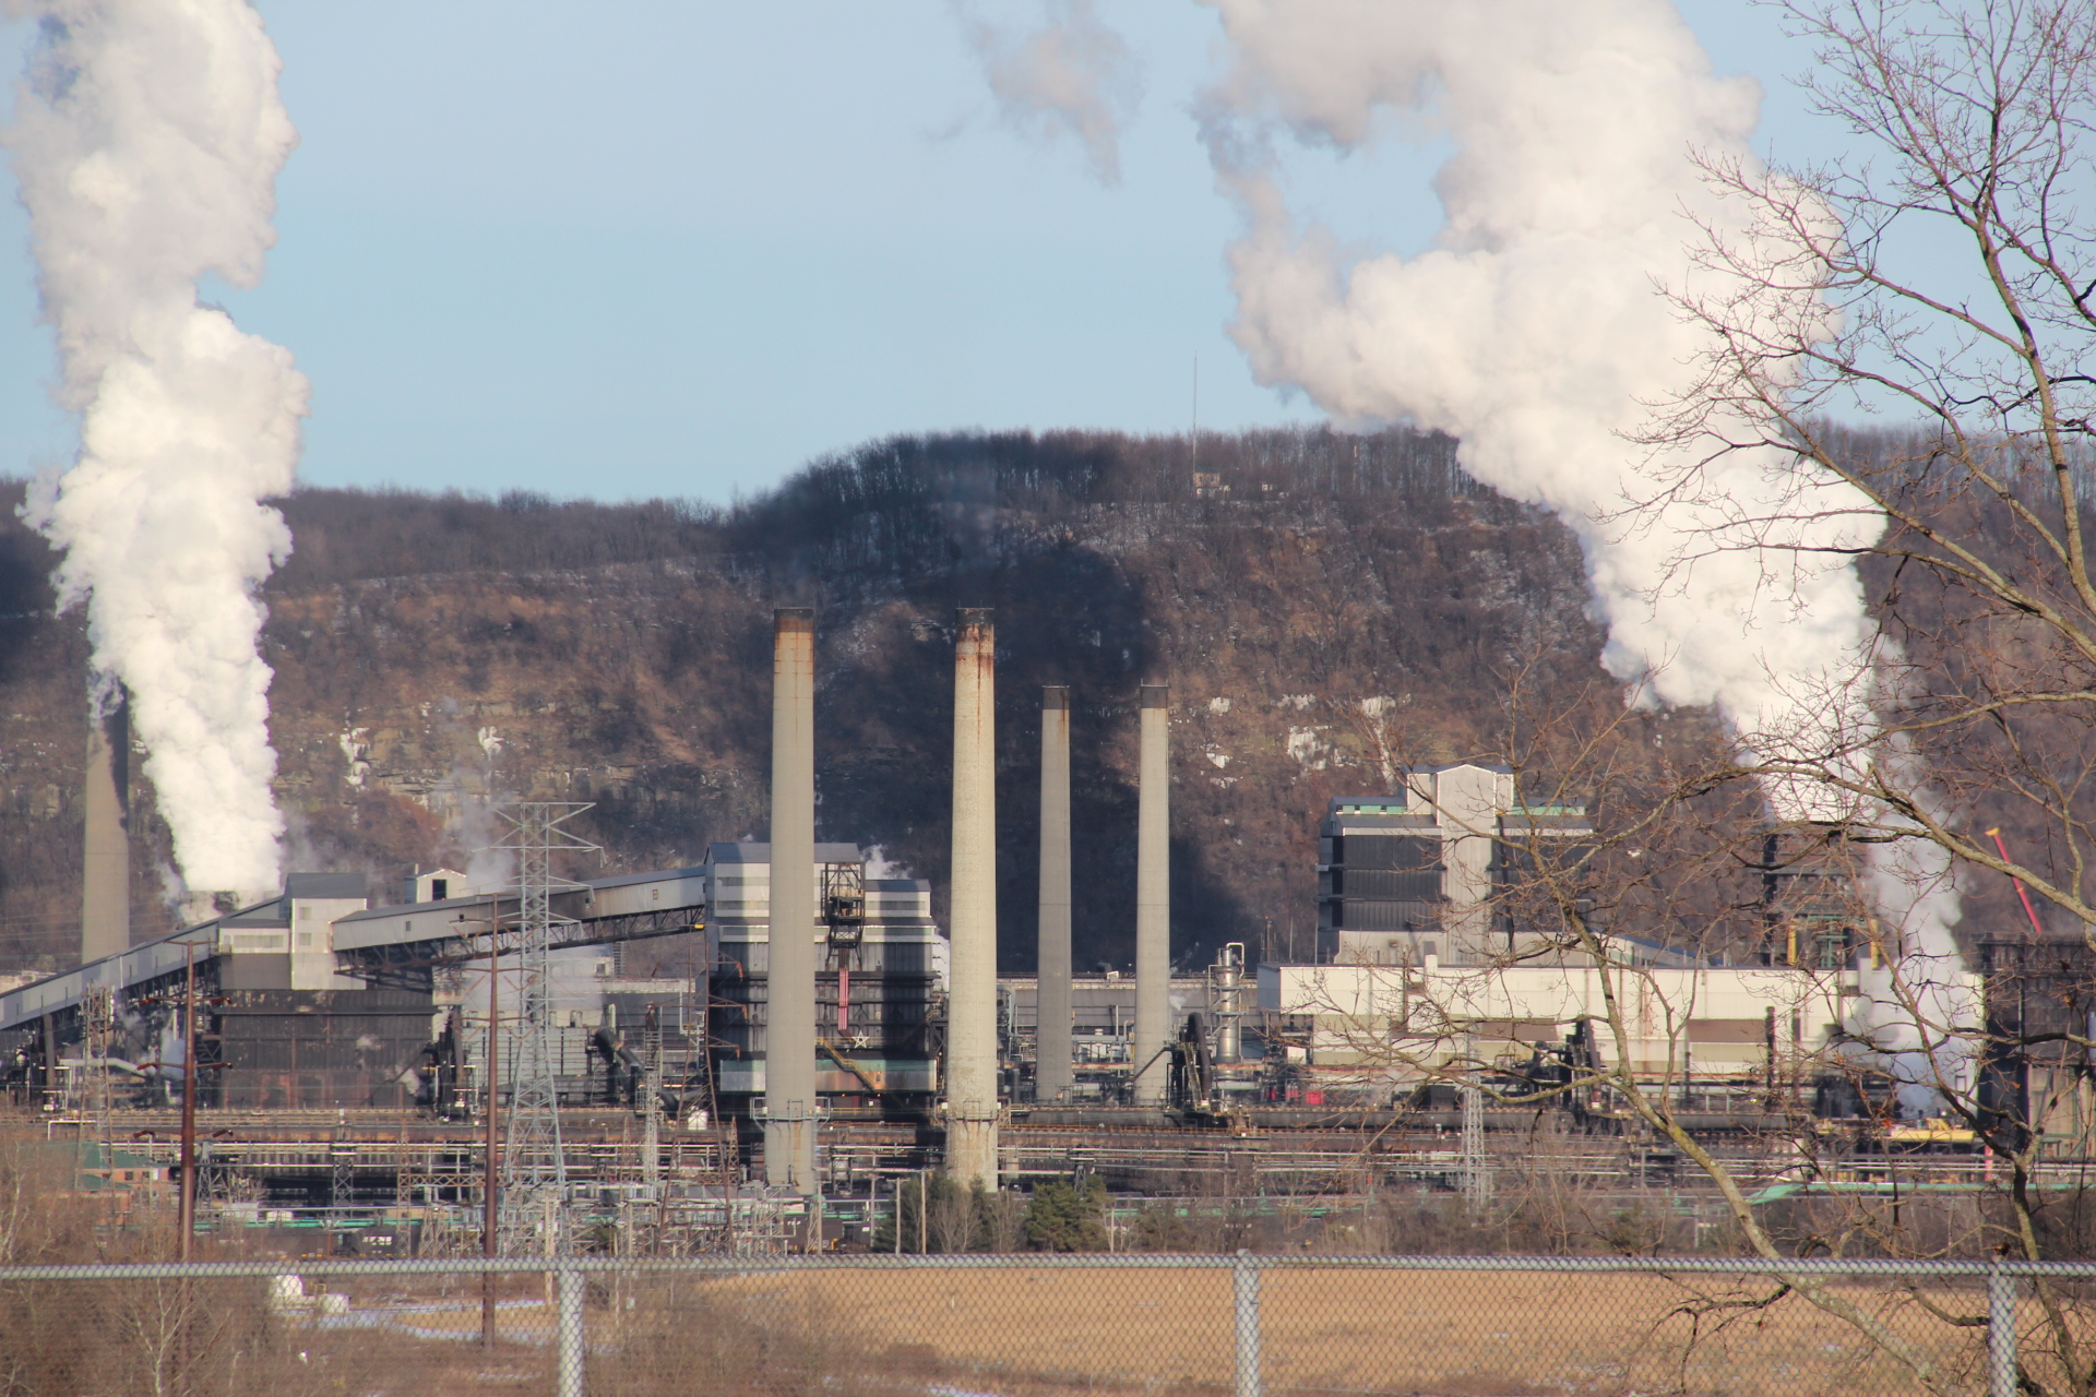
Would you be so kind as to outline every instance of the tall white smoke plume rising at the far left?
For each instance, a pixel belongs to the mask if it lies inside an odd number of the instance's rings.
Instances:
[[[262,279],[298,142],[243,0],[10,0],[40,21],[6,132],[80,457],[27,517],[65,549],[94,666],[124,681],[191,890],[279,886],[256,586],[291,551],[306,379],[197,304]]]

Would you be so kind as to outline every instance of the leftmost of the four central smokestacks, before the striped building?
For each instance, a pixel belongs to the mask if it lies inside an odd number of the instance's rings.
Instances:
[[[815,1179],[815,612],[771,622],[771,938],[765,1183]]]

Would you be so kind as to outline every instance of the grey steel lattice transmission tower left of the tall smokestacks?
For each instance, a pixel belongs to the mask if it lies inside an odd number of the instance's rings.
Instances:
[[[497,811],[509,821],[497,848],[518,857],[518,1020],[509,1039],[509,1127],[503,1131],[501,1250],[560,1255],[568,1250],[568,1165],[560,1148],[558,1051],[553,1043],[553,894],[583,884],[553,875],[553,855],[597,852],[562,825],[589,804],[524,800]],[[501,932],[497,930],[497,940]]]

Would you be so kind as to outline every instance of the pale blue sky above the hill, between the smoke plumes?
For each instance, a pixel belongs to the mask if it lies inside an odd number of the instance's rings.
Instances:
[[[262,0],[302,134],[262,289],[222,300],[312,377],[302,475],[727,501],[891,431],[1306,421],[1224,333],[1230,205],[1188,105],[1214,13],[1102,0],[1144,96],[1102,189],[1004,126],[945,0]],[[1019,19],[1033,6],[983,6]],[[1740,0],[1685,6],[1826,134],[1809,54]],[[616,23],[612,23],[616,17]],[[27,27],[0,25],[19,69]],[[1438,224],[1432,153],[1297,161],[1364,247]],[[0,207],[0,473],[63,463],[27,220]]]

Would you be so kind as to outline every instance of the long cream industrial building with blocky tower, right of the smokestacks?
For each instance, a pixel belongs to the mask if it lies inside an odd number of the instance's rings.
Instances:
[[[1497,1074],[1520,1095],[1626,1068],[1700,1112],[1888,1108],[1855,1083],[1870,1026],[1909,1016],[1901,949],[1872,930],[1838,825],[1763,842],[1759,953],[1610,934],[1612,966],[1568,945],[1553,905],[1520,896],[1580,852],[1587,813],[1518,802],[1505,769],[1415,769],[1398,794],[1333,800],[1318,834],[1320,963],[1258,970],[1268,1054],[1293,1091],[1390,1102]],[[1951,1005],[1943,1030],[1979,1030],[1983,974],[1916,974]],[[1970,1085],[1977,1066],[1958,1070]]]

